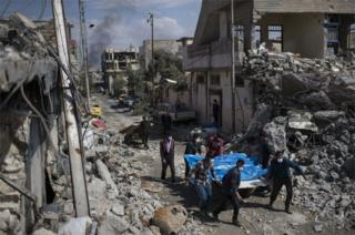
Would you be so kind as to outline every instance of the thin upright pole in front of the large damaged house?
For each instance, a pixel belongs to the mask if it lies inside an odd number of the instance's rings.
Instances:
[[[232,83],[232,126],[233,132],[236,131],[235,126],[235,25],[234,25],[234,0],[231,0],[231,83]]]

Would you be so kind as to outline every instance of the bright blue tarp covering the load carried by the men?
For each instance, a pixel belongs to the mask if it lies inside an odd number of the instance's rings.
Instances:
[[[199,155],[185,155],[185,161],[191,168],[193,168],[202,159],[203,157]],[[266,174],[267,170],[262,168],[260,165],[260,157],[247,156],[243,153],[233,153],[213,159],[213,167],[217,177],[216,180],[221,181],[229,170],[235,166],[236,161],[240,159],[245,161],[245,165],[242,171],[242,181],[256,180]]]

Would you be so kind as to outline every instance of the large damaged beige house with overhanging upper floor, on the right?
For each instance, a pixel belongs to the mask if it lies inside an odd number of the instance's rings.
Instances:
[[[239,73],[245,52],[262,42],[268,50],[306,58],[352,48],[354,6],[355,0],[234,0],[237,95],[233,109],[231,0],[203,0],[194,42],[184,50],[184,69],[192,78],[192,106],[200,123],[213,122],[212,102],[217,100],[223,131],[233,132],[234,126],[241,131],[247,125],[254,112],[253,86]]]

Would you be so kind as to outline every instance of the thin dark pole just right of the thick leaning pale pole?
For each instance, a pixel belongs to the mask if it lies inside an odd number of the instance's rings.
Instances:
[[[87,103],[90,110],[90,81],[89,81],[89,62],[88,62],[88,33],[85,24],[85,10],[84,1],[79,0],[79,10],[80,10],[80,38],[81,38],[81,53],[82,62],[85,74],[85,90],[87,90]]]

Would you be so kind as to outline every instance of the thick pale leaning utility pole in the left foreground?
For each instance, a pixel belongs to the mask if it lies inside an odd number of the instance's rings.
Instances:
[[[57,34],[59,59],[67,71],[70,71],[70,60],[67,41],[67,30],[62,0],[52,0],[53,19]],[[71,92],[72,82],[64,69],[60,70],[62,83],[62,101],[64,106],[65,131],[69,147],[69,161],[72,182],[73,204],[77,217],[90,215],[87,192],[85,172],[83,167],[80,133],[74,114],[74,95]]]

